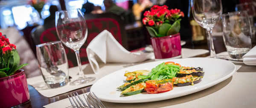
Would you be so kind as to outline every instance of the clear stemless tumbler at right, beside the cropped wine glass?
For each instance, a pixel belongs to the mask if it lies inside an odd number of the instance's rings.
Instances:
[[[231,58],[242,59],[252,47],[252,30],[246,11],[222,15],[224,44]]]

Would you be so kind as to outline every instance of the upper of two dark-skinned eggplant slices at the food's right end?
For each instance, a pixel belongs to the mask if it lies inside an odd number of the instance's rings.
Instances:
[[[203,78],[204,72],[203,68],[198,67],[182,67],[179,72],[177,72],[177,77],[185,77],[186,75],[192,75],[192,76],[201,76]]]

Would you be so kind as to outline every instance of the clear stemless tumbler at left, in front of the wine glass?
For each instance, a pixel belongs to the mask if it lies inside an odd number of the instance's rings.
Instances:
[[[67,56],[60,41],[36,45],[39,69],[49,88],[65,86],[68,82]]]

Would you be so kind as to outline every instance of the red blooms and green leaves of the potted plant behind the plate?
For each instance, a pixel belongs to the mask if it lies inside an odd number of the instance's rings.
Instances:
[[[152,37],[170,36],[180,31],[180,17],[184,13],[180,9],[168,10],[167,6],[153,6],[143,14],[143,24]]]

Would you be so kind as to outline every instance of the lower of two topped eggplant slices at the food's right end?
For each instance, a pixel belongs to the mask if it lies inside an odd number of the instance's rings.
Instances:
[[[186,77],[182,77],[182,78],[177,78],[177,77],[172,78],[172,81],[177,86],[189,86],[189,85],[194,85],[196,83],[201,82],[201,77],[186,75]]]

